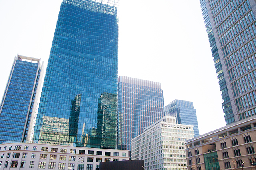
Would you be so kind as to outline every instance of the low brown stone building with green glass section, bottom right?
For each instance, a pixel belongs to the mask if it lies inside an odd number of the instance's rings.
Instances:
[[[189,170],[251,170],[255,162],[256,117],[238,121],[185,143]]]

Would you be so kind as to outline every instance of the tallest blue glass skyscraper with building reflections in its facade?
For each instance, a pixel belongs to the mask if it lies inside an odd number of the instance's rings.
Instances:
[[[35,142],[115,148],[115,143],[109,141],[116,140],[116,135],[96,132],[104,129],[98,125],[99,98],[103,95],[102,100],[117,107],[116,5],[117,0],[63,0],[38,110]],[[109,113],[111,127],[116,128],[116,109],[108,111],[113,112]]]

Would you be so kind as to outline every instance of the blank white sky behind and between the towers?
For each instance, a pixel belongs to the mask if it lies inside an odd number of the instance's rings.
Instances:
[[[46,70],[61,2],[0,0],[0,98],[17,54]],[[199,0],[120,0],[119,11],[118,76],[160,82],[165,106],[192,101],[200,135],[225,126]]]

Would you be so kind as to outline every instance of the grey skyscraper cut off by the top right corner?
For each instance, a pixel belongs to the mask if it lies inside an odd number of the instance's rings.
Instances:
[[[256,115],[256,5],[253,0],[200,0],[226,124]]]

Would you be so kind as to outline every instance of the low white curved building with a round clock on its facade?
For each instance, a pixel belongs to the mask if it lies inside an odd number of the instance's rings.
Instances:
[[[129,160],[128,150],[39,143],[0,144],[0,170],[99,170],[100,162]]]

